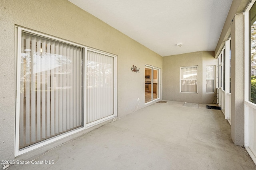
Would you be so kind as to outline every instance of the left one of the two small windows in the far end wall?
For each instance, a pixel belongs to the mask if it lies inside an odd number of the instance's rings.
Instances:
[[[197,93],[198,66],[180,67],[180,92]]]

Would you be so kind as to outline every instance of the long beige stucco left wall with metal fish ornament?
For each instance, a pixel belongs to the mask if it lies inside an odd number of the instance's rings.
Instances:
[[[68,0],[0,1],[0,160],[14,159],[15,25],[118,55],[118,117],[144,107],[144,64],[162,57]],[[132,65],[140,73],[132,72]]]

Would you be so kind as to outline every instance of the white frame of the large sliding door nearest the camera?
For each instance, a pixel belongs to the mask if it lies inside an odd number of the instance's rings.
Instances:
[[[72,131],[68,131],[66,133],[62,133],[60,135],[57,135],[55,137],[52,137],[50,139],[46,139],[44,141],[41,141],[39,143],[36,143],[34,145],[30,145],[29,147],[26,147],[24,149],[19,149],[19,131],[20,131],[20,126],[19,126],[19,123],[20,123],[20,68],[21,68],[21,65],[20,65],[20,57],[21,57],[21,54],[20,54],[20,51],[21,51],[21,34],[22,34],[22,31],[25,31],[25,32],[28,32],[30,34],[34,34],[34,35],[38,35],[38,36],[41,36],[41,37],[46,37],[48,39],[52,39],[54,41],[60,41],[62,43],[66,43],[66,44],[70,44],[70,45],[74,45],[74,46],[77,46],[77,47],[81,47],[84,51],[83,53],[83,65],[84,65],[84,70],[83,70],[83,87],[82,87],[82,90],[83,90],[83,106],[86,106],[86,59],[87,59],[87,50],[94,50],[94,51],[97,51],[97,52],[100,52],[100,53],[104,53],[106,55],[111,55],[112,57],[114,57],[114,115],[110,116],[110,117],[107,117],[107,118],[104,118],[104,119],[100,119],[98,121],[95,121],[94,123],[89,123],[88,125],[86,125],[86,112],[85,112],[85,108],[82,107],[82,112],[83,112],[83,125],[82,127],[79,127],[77,129],[74,129]],[[47,145],[49,143],[52,143],[54,141],[58,141],[59,139],[63,139],[65,137],[68,137],[74,133],[78,133],[80,131],[83,131],[84,129],[88,129],[92,126],[95,126],[95,125],[98,125],[99,123],[102,123],[103,121],[107,121],[107,120],[110,120],[112,119],[113,117],[116,117],[117,116],[117,56],[116,55],[113,55],[113,54],[110,54],[110,53],[106,53],[106,52],[102,52],[102,51],[99,51],[99,50],[96,50],[96,49],[92,49],[92,48],[89,48],[89,47],[86,47],[84,45],[80,45],[80,44],[77,44],[77,43],[73,43],[71,41],[67,41],[67,40],[64,40],[64,39],[60,39],[60,38],[57,38],[57,37],[53,37],[53,36],[50,36],[50,35],[46,35],[44,33],[40,33],[40,32],[37,32],[37,31],[32,31],[30,29],[26,29],[26,28],[23,28],[23,27],[19,27],[19,26],[16,26],[15,27],[15,41],[16,41],[16,58],[15,58],[15,62],[16,62],[16,122],[15,122],[15,151],[14,151],[14,156],[19,156],[21,154],[24,154],[26,152],[29,152],[31,150],[34,150],[34,149],[37,149],[39,147],[42,147],[44,145]]]

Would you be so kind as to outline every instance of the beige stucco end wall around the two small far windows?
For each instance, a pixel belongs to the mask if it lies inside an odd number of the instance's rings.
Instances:
[[[211,104],[216,94],[206,94],[205,72],[206,65],[214,65],[216,68],[216,62],[213,51],[199,51],[163,57],[163,100]],[[180,92],[180,67],[182,66],[198,66],[198,93]]]

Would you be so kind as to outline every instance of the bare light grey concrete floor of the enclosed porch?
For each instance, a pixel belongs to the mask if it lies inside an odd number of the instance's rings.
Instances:
[[[220,110],[156,103],[50,150],[19,169],[88,170],[252,170],[246,150],[230,138]]]

